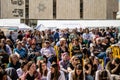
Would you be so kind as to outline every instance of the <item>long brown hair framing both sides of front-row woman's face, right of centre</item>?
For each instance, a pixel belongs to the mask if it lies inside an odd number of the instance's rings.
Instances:
[[[76,70],[82,70],[80,75],[77,75]],[[84,80],[83,66],[81,64],[77,64],[73,73],[73,80]]]

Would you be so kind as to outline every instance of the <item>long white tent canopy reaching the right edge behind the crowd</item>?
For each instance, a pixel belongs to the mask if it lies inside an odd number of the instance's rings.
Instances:
[[[37,26],[47,28],[85,28],[85,27],[119,27],[120,20],[38,20]]]

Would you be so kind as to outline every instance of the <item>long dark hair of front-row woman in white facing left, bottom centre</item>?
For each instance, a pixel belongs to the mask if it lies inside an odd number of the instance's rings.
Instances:
[[[54,73],[51,74],[51,80],[58,80],[60,76],[59,66],[58,64],[52,64],[51,67],[55,69]]]

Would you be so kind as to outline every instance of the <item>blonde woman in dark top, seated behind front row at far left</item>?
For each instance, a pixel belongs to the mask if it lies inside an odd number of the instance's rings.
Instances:
[[[21,63],[19,62],[19,58],[16,54],[11,54],[9,57],[8,68],[13,67],[14,69],[20,68]]]

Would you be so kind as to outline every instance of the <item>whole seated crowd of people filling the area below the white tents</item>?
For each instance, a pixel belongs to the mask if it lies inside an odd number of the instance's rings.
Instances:
[[[110,48],[118,33],[114,27],[0,30],[0,80],[119,80],[120,58]]]

